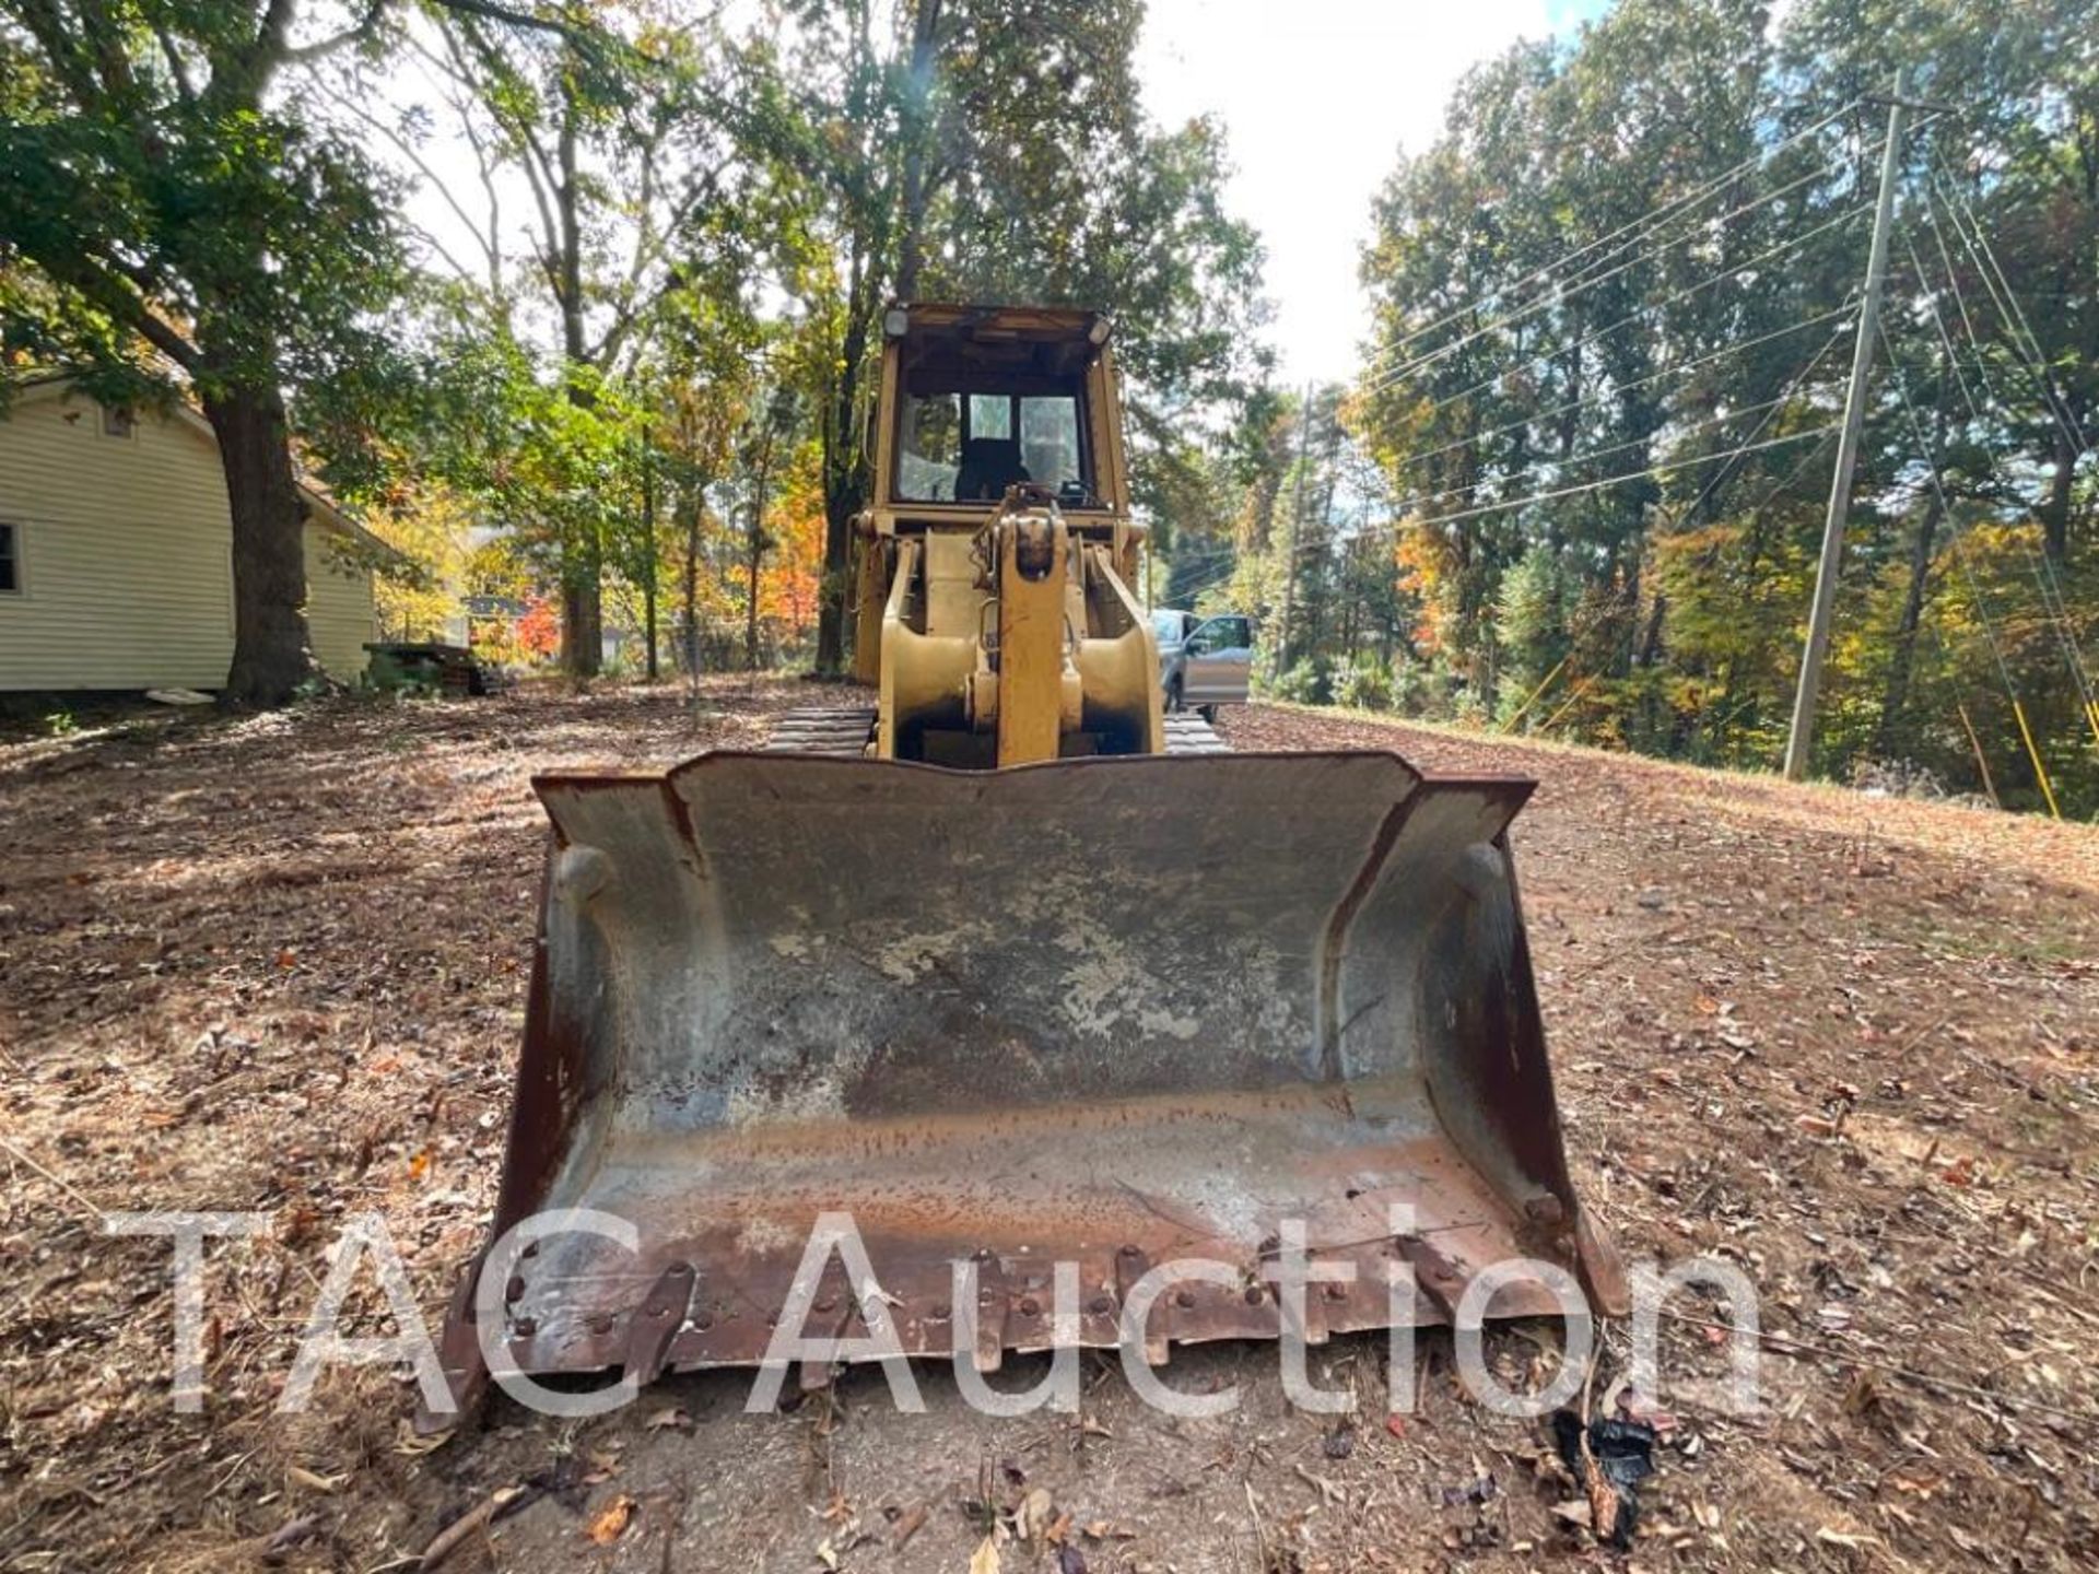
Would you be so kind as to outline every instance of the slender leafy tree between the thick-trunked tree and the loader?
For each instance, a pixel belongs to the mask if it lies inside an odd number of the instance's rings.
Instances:
[[[663,332],[691,344],[720,321],[733,342],[747,338],[749,235],[766,208],[737,153],[733,63],[709,21],[665,19],[646,4],[577,6],[563,27],[537,31],[447,8],[418,57],[426,101],[407,122],[359,107],[355,84],[338,105],[380,130],[453,214],[472,218],[466,231],[481,256],[453,258],[470,321],[510,338],[533,361],[533,380],[581,411],[563,430],[590,426],[600,399],[626,401],[596,422],[607,453],[623,460],[619,485],[596,493],[594,506],[556,495],[531,506],[514,491],[506,499],[521,527],[548,537],[563,663],[588,676],[602,651],[607,573],[638,592],[642,621],[653,623],[663,560],[644,485],[653,439],[634,428],[634,405],[649,397],[634,384],[661,384],[644,363]],[[445,189],[422,157],[418,128],[439,124],[470,149],[479,191]],[[506,187],[523,193],[521,256],[502,229]],[[554,428],[527,420],[521,432]],[[563,470],[556,458],[544,474]]]

